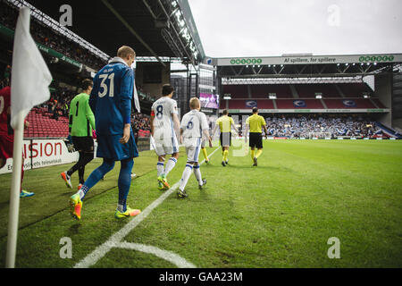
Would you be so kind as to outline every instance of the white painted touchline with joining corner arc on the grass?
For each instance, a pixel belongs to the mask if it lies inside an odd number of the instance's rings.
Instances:
[[[220,147],[217,147],[214,149],[214,152],[211,153],[209,156],[213,156],[214,153],[219,149]],[[203,160],[201,164],[204,164],[205,160]],[[161,257],[165,260],[168,260],[169,262],[172,262],[174,265],[178,265],[178,267],[181,267],[180,265],[187,265],[187,267],[191,268],[196,268],[195,265],[192,265],[188,263],[184,258],[173,254],[172,252],[165,251],[159,248],[151,247],[151,246],[146,246],[146,245],[140,245],[138,243],[129,243],[129,242],[121,242],[121,240],[124,239],[124,237],[129,234],[130,231],[132,231],[139,223],[141,223],[144,219],[147,218],[148,214],[150,214],[156,206],[159,206],[163,203],[163,201],[168,198],[173,191],[175,191],[180,185],[180,181],[176,182],[171,189],[166,190],[159,198],[156,198],[154,202],[151,203],[151,205],[147,206],[147,208],[141,212],[141,214],[136,215],[132,220],[130,220],[129,223],[124,225],[120,231],[117,231],[114,233],[108,240],[106,240],[103,244],[98,246],[97,248],[94,249],[90,254],[88,254],[87,257],[84,257],[79,263],[74,265],[74,268],[88,268],[91,265],[95,265],[96,262],[101,259],[102,257],[105,257],[105,254],[109,252],[111,248],[125,248],[123,246],[126,246],[127,248],[130,249],[135,249],[138,251],[142,251],[140,249],[146,249],[147,253],[154,254],[157,257]],[[142,247],[138,247],[142,246]],[[159,249],[159,250],[155,250]],[[161,252],[162,251],[162,252]],[[164,254],[169,254],[168,256],[163,256]],[[172,256],[173,255],[173,256]],[[174,262],[173,262],[174,261]],[[191,266],[188,266],[191,265]]]

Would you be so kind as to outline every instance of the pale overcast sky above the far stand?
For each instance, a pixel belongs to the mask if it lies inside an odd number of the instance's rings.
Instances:
[[[205,54],[402,53],[400,0],[188,0]],[[330,26],[328,7],[339,7]]]

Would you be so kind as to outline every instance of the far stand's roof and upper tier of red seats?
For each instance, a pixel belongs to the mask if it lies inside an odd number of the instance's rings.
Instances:
[[[244,115],[257,106],[266,117],[358,114],[379,122],[386,136],[402,128],[401,62],[402,54],[212,59],[220,111]]]

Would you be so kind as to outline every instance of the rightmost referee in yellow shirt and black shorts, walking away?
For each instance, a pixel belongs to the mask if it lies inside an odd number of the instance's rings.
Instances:
[[[251,159],[253,160],[253,166],[257,165],[257,158],[261,156],[261,154],[263,153],[263,138],[262,138],[263,127],[266,138],[268,130],[266,130],[266,123],[264,117],[258,115],[258,108],[254,107],[253,115],[247,117],[246,130],[244,132],[245,133],[244,140],[247,143],[247,131],[250,130],[249,133],[250,142],[248,146],[251,149]],[[255,154],[255,147],[257,148],[256,154]]]

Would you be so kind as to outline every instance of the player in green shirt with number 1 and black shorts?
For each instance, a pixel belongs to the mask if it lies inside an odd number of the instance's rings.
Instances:
[[[78,189],[80,189],[82,184],[85,182],[85,165],[94,158],[94,139],[92,139],[92,130],[95,130],[95,117],[88,103],[92,87],[92,80],[82,80],[82,93],[71,100],[69,133],[75,149],[80,153],[80,159],[69,171],[61,173],[65,184],[71,189],[72,173],[78,170],[80,178]]]

